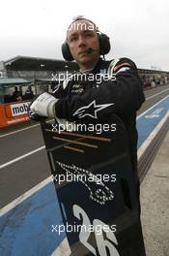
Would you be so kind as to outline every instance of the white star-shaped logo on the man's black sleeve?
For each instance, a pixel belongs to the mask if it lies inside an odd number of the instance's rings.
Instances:
[[[111,104],[96,104],[96,100],[91,102],[89,105],[79,108],[76,112],[74,112],[72,115],[76,115],[78,118],[83,118],[85,116],[90,116],[92,118],[98,118],[98,112],[101,110],[108,108],[110,106],[114,105],[114,103]]]

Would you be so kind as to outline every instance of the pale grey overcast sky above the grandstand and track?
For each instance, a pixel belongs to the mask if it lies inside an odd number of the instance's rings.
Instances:
[[[62,59],[73,16],[97,23],[111,40],[107,59],[127,56],[139,68],[169,71],[167,0],[0,0],[0,60],[16,55]]]

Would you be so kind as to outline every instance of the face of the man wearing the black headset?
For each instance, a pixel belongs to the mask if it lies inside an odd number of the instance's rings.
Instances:
[[[80,65],[90,65],[99,59],[99,50],[88,53],[88,48],[99,49],[99,38],[94,25],[85,19],[73,22],[67,33],[72,57]]]

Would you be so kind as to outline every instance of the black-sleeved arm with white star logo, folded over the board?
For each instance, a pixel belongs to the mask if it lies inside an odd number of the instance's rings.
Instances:
[[[110,65],[116,80],[104,80],[99,87],[78,95],[67,95],[55,104],[55,114],[70,121],[101,118],[110,112],[129,114],[136,112],[145,101],[142,81],[135,64],[120,59]]]

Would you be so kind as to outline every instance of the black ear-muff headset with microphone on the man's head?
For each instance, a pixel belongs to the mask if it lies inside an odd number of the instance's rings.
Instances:
[[[84,17],[76,18],[73,22],[75,22],[77,20],[80,20],[80,19],[88,20],[89,22],[94,24],[94,26],[98,29],[96,24],[93,21],[91,21],[90,19],[88,19],[88,18],[84,18]],[[71,24],[73,22],[71,22]],[[70,24],[70,26],[71,26],[71,24]],[[69,28],[70,28],[70,26],[69,26]],[[103,34],[103,33],[99,32],[99,29],[97,31],[97,34],[98,34],[98,37],[99,37],[99,54],[100,55],[105,55],[105,54],[107,54],[110,51],[110,39],[109,39],[109,37],[106,34]],[[89,53],[92,53],[93,51],[96,51],[96,49],[93,49],[93,48],[89,48],[88,49]],[[72,55],[70,53],[70,48],[69,48],[67,40],[62,45],[62,54],[63,54],[63,57],[67,61],[72,61],[73,60],[73,57],[72,57]]]

